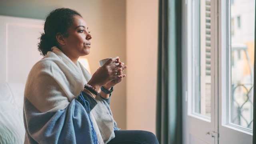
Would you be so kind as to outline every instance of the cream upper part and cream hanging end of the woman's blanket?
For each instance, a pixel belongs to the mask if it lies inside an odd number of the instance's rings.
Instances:
[[[61,50],[52,47],[52,52],[48,52],[30,71],[24,96],[40,112],[64,110],[90,78],[80,62],[74,64]],[[115,137],[114,119],[99,96],[96,101],[98,104],[91,110],[90,118],[98,142],[107,143]]]

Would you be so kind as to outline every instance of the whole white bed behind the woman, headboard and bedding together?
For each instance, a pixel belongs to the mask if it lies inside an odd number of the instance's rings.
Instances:
[[[24,87],[37,50],[43,20],[0,16],[0,144],[24,143]]]

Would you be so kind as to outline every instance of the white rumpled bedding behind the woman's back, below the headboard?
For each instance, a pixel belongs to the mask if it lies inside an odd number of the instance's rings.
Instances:
[[[0,84],[0,144],[23,144],[24,84]]]

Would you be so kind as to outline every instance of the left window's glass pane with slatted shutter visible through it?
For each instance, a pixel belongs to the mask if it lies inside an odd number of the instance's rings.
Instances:
[[[193,1],[193,112],[211,115],[211,6]]]

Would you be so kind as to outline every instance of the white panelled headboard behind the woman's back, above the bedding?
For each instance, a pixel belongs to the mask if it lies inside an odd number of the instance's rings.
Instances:
[[[43,20],[0,16],[0,84],[26,83],[32,66],[42,58],[37,50]]]

